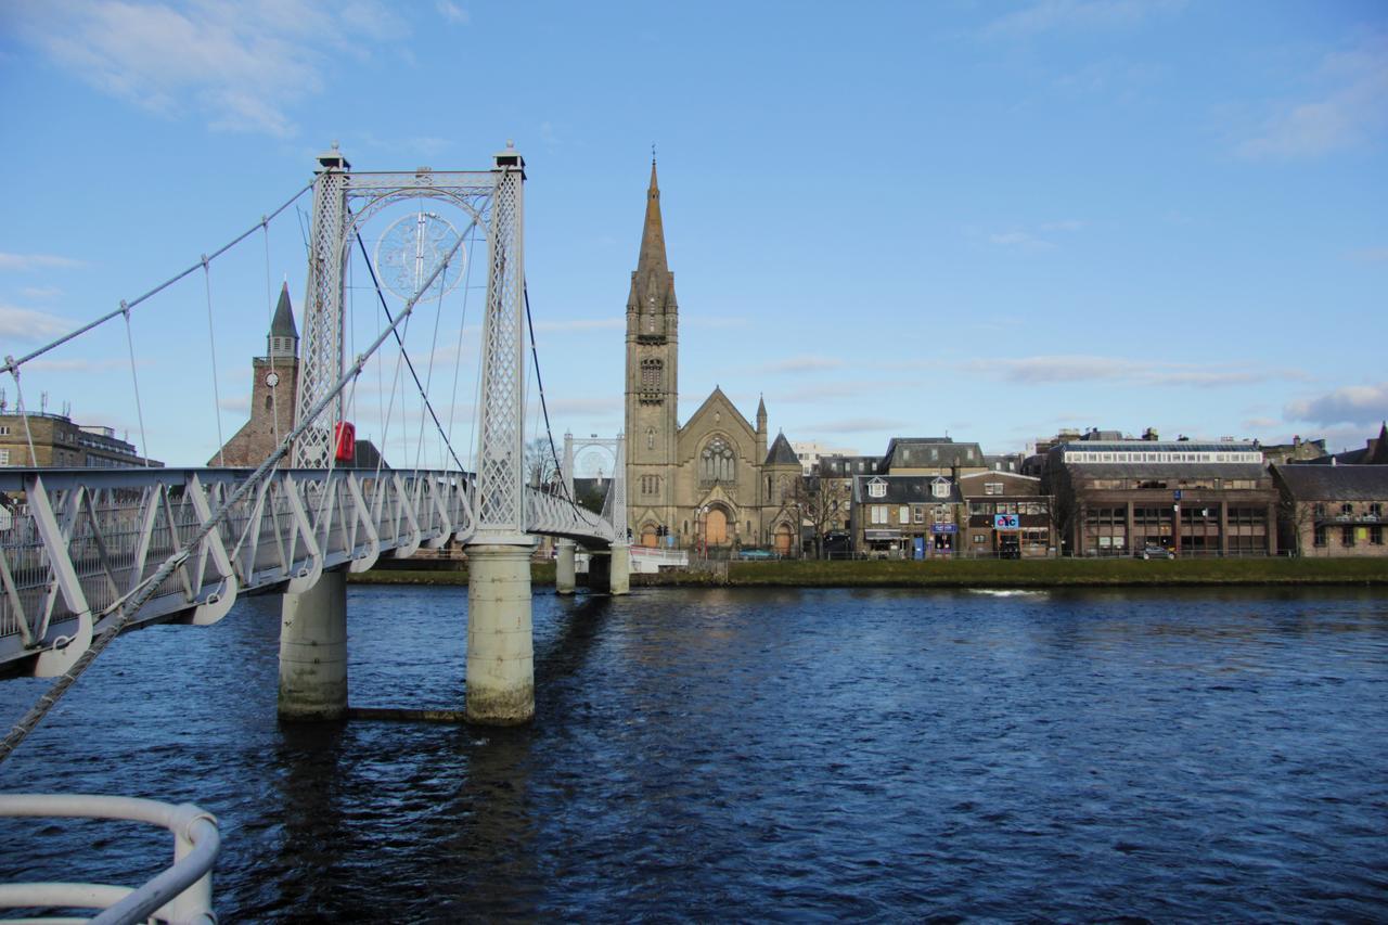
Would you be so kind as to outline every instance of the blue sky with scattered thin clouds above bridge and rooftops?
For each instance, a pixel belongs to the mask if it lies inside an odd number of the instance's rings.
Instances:
[[[509,139],[554,432],[612,435],[654,144],[682,421],[715,386],[865,454],[1091,426],[1341,450],[1388,418],[1381,0],[6,0],[0,103],[0,354],[198,265],[335,140],[387,171],[487,169]],[[10,407],[46,394],[205,462],[246,421],[282,283],[301,322],[310,207],[132,310],[129,338],[26,364]],[[350,285],[353,353],[382,317],[359,260]],[[480,285],[407,339],[465,460]],[[397,365],[348,414],[393,464],[439,462]]]

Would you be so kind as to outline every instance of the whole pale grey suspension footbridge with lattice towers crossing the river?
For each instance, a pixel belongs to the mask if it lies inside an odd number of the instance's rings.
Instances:
[[[353,171],[335,144],[319,157],[312,183],[298,196],[308,190],[308,294],[294,424],[260,465],[0,469],[0,672],[57,678],[0,746],[0,760],[118,633],[154,621],[212,624],[244,593],[283,596],[280,715],[343,717],[346,575],[386,556],[408,557],[450,542],[464,546],[469,567],[465,715],[477,724],[527,722],[534,714],[530,558],[536,538],[558,538],[559,593],[575,589],[577,546],[590,553],[591,588],[626,593],[630,550],[622,436],[580,442],[612,457],[601,512],[575,503],[573,442],[565,442],[561,462],[547,411],[543,440],[559,476],[526,479],[527,332],[541,410],[544,403],[525,286],[520,154],[508,143],[490,169],[475,172],[362,172]],[[444,242],[434,251],[416,250],[412,293],[404,307],[396,315],[387,311],[390,324],[347,361],[344,308],[353,244],[361,243],[361,229],[372,217],[419,200],[458,210],[486,242],[475,465],[465,471],[450,443],[457,462],[451,468],[346,468],[339,464],[341,442],[351,433],[344,425],[344,396],[387,340],[404,351],[403,325],[461,260],[462,236],[451,247]],[[12,378],[21,414],[25,364],[122,317],[129,332],[130,312],[142,301],[198,267],[205,272],[210,261],[254,231],[65,338],[18,360],[6,357],[0,372]],[[130,353],[133,376],[133,346]],[[423,401],[428,407],[428,394]],[[447,433],[443,438],[450,442]]]

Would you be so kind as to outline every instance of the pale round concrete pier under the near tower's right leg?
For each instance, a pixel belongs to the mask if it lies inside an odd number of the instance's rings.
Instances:
[[[468,722],[514,726],[534,718],[532,549],[468,547]]]

